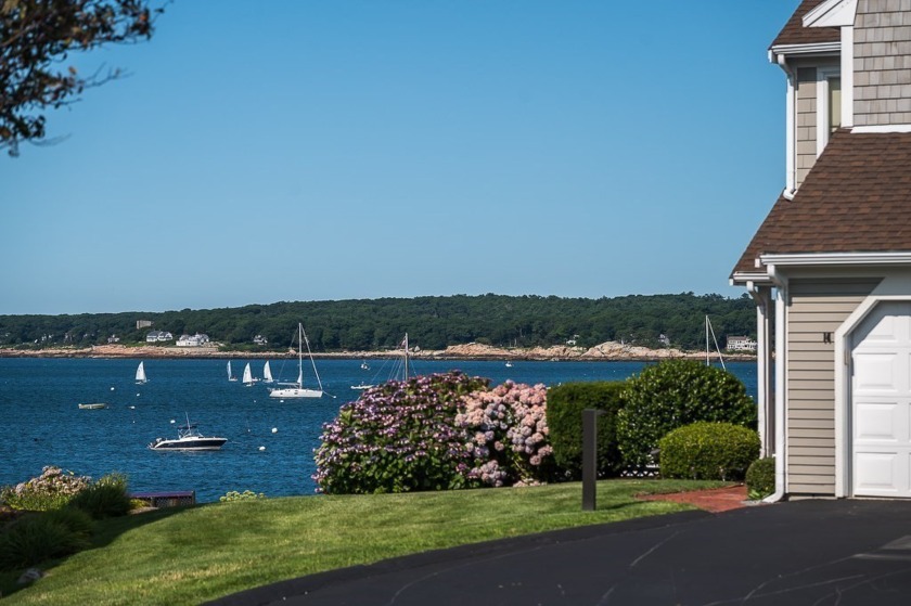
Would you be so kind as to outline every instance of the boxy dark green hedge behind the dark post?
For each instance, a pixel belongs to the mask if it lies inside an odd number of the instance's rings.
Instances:
[[[623,468],[617,448],[617,412],[626,382],[566,383],[548,390],[548,427],[553,457],[566,479],[582,475],[582,411],[595,409],[598,417],[598,473],[614,476]]]

